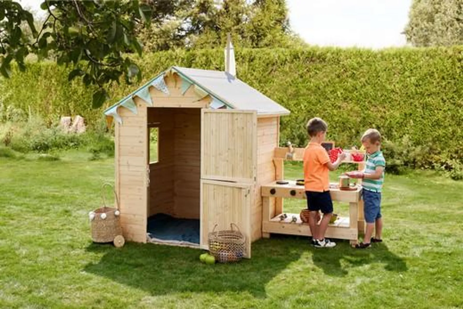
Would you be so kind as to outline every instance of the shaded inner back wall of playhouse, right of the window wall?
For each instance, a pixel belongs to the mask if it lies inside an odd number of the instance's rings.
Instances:
[[[200,218],[201,110],[175,108],[174,214]]]

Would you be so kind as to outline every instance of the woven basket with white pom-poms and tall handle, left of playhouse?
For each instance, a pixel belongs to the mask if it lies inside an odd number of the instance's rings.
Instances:
[[[116,208],[108,207],[106,204],[105,195],[103,194],[106,186],[113,189],[114,196],[116,197]],[[93,218],[90,216],[92,240],[94,242],[113,242],[116,236],[122,235],[119,219],[119,200],[116,191],[108,183],[103,184],[101,187],[101,197],[103,199],[103,207],[93,211]]]

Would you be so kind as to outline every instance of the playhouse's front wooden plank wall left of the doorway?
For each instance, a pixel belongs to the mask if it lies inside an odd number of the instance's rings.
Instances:
[[[146,104],[135,98],[138,114],[124,107],[123,124],[115,125],[115,189],[119,197],[122,230],[126,240],[146,242]]]

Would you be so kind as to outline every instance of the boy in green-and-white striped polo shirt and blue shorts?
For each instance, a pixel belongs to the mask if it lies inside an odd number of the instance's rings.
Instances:
[[[381,218],[381,189],[384,183],[384,168],[386,160],[380,151],[381,134],[378,130],[368,129],[362,136],[362,144],[367,151],[365,169],[361,172],[346,173],[352,178],[362,178],[363,213],[367,228],[363,242],[356,245],[358,249],[368,248],[371,242],[381,242],[382,218]],[[375,231],[375,237],[373,236]]]

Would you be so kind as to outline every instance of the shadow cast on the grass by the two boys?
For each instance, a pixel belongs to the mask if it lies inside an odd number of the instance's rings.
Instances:
[[[359,250],[350,247],[347,241],[337,241],[337,246],[330,249],[311,247],[313,264],[321,268],[325,274],[343,277],[352,267],[372,263],[386,264],[386,271],[407,271],[405,260],[389,251],[384,243],[372,244],[371,248]],[[341,265],[343,264],[343,265]]]

